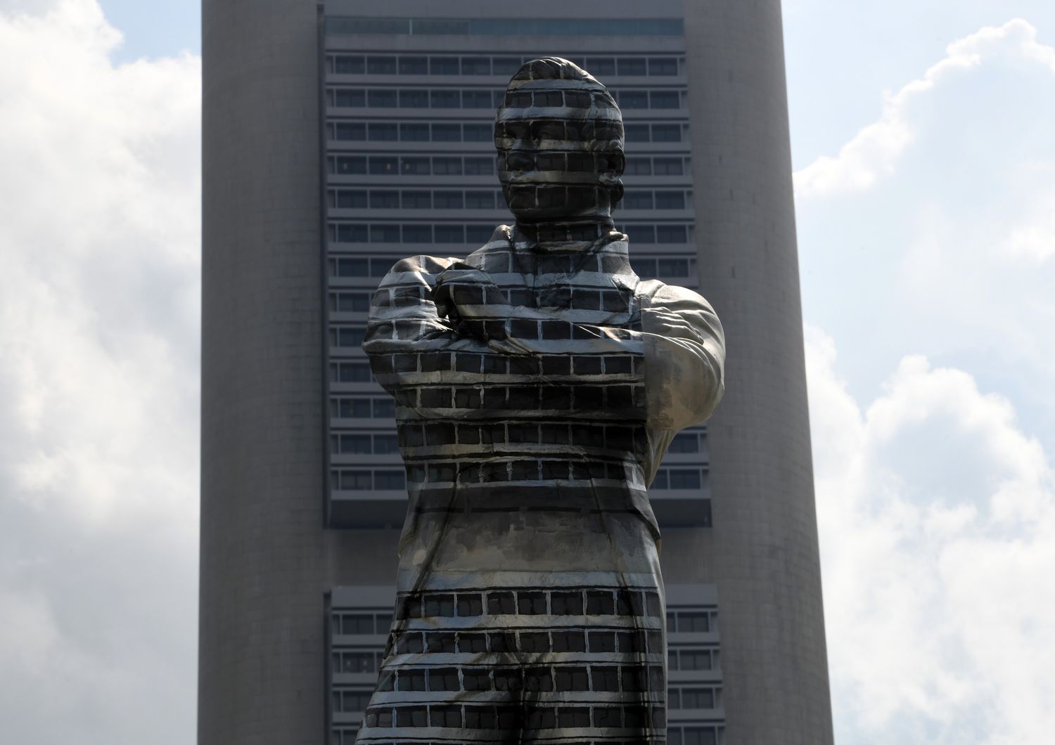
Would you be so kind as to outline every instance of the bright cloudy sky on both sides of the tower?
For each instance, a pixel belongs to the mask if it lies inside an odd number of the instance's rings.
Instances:
[[[1055,4],[785,0],[840,745],[1055,731]],[[194,742],[196,1],[0,0],[0,722]]]

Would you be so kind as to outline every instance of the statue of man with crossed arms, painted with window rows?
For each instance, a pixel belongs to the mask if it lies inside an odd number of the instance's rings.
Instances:
[[[725,350],[703,297],[630,268],[622,139],[597,80],[528,62],[495,123],[516,224],[400,261],[375,295],[363,348],[409,508],[360,743],[665,741],[646,489],[722,397]]]

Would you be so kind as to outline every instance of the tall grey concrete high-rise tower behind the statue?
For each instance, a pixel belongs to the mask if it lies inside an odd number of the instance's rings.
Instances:
[[[634,269],[727,334],[650,490],[669,742],[830,742],[779,0],[204,0],[203,37],[202,745],[354,740],[406,506],[366,311],[512,221],[495,110],[539,56],[616,97]]]

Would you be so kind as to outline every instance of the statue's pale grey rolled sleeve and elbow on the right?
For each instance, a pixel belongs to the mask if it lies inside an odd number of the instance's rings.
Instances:
[[[699,424],[725,391],[725,334],[710,303],[652,280],[638,290],[648,426],[671,433]]]

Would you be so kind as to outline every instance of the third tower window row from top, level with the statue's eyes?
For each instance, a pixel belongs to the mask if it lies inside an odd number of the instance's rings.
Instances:
[[[627,142],[680,142],[688,124],[624,123]],[[421,121],[331,121],[329,138],[339,142],[492,142],[491,124]]]

